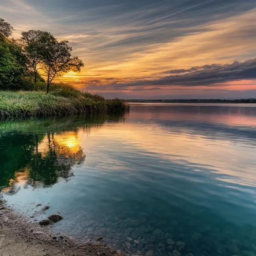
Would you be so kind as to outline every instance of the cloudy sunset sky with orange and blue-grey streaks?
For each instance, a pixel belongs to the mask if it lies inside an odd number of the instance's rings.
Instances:
[[[13,37],[68,40],[61,81],[124,99],[256,98],[256,0],[1,0]]]

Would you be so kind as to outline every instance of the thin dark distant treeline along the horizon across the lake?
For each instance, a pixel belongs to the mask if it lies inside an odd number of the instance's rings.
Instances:
[[[191,99],[191,100],[127,100],[128,102],[167,102],[167,103],[256,103],[256,99]]]

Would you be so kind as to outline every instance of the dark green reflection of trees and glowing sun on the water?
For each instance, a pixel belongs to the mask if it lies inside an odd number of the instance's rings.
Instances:
[[[21,185],[44,188],[59,178],[68,181],[72,167],[82,164],[86,157],[78,142],[78,131],[89,134],[92,128],[100,128],[105,118],[2,123],[0,189],[13,195]],[[31,132],[37,125],[40,133]]]

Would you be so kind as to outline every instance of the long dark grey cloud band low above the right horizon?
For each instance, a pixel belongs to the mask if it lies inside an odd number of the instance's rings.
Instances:
[[[228,81],[256,79],[256,59],[248,61],[234,61],[232,64],[212,64],[189,69],[173,69],[164,72],[168,75],[152,81],[134,81],[130,84],[118,86],[211,86]]]

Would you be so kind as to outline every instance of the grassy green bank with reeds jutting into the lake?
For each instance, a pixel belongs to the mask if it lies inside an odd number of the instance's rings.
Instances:
[[[74,114],[121,114],[128,104],[120,99],[105,100],[70,85],[52,86],[51,92],[0,91],[0,119],[63,116]]]

